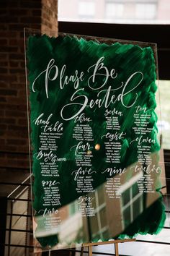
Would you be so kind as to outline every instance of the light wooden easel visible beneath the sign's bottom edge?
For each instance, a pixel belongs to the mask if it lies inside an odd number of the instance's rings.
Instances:
[[[87,244],[81,244],[81,254],[80,256],[83,256],[84,254],[84,247],[88,247],[89,250],[89,256],[93,255],[92,247],[96,245],[104,245],[104,244],[115,244],[115,256],[119,256],[119,248],[118,245],[125,242],[135,242],[135,239],[118,239],[118,240],[112,240],[107,242],[97,242],[97,243],[87,243]]]

